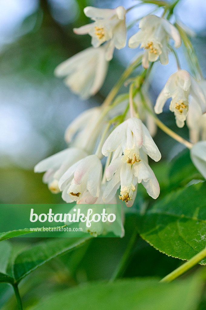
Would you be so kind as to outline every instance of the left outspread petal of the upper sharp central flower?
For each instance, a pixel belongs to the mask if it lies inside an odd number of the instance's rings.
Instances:
[[[123,139],[126,139],[127,126],[128,123],[125,121],[111,132],[102,147],[101,151],[103,155],[108,156],[110,152],[113,152],[118,148]]]

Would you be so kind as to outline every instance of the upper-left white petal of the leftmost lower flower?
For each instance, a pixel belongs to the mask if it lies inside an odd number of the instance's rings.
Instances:
[[[71,153],[71,148],[66,148],[63,151],[43,159],[34,167],[34,172],[44,172],[49,169],[59,168],[60,165],[69,158]]]

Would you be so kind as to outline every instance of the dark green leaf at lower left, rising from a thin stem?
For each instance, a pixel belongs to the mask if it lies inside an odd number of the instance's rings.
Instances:
[[[80,246],[88,238],[56,238],[52,241],[40,242],[17,255],[13,265],[13,276],[19,282],[30,272],[48,262],[52,258],[62,255]]]

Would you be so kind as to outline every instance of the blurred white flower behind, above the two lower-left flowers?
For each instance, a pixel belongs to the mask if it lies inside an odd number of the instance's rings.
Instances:
[[[65,141],[74,147],[93,153],[96,139],[106,126],[106,117],[101,117],[101,107],[94,107],[81,113],[65,131]]]

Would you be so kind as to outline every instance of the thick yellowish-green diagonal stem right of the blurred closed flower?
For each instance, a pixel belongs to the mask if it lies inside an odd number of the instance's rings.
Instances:
[[[109,92],[108,96],[106,97],[105,101],[102,104],[102,107],[106,107],[110,105],[114,97],[117,95],[120,87],[125,82],[125,80],[130,76],[132,71],[136,69],[140,64],[142,60],[142,55],[138,56],[137,59],[135,59],[128,68],[123,72],[122,76],[120,77],[119,81],[114,85],[114,87]]]

